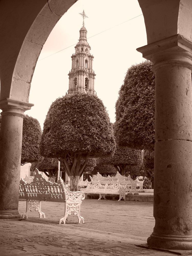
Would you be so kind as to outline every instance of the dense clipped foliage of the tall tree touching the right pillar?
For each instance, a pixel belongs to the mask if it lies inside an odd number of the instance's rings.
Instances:
[[[116,102],[116,142],[120,146],[154,150],[155,75],[152,62],[131,66]]]

